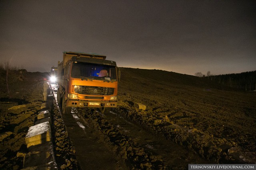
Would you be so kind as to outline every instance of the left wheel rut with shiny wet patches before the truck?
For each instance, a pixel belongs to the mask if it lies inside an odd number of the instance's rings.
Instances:
[[[105,142],[104,136],[98,133],[94,126],[84,119],[80,119],[72,109],[72,114],[62,115],[67,127],[72,145],[76,150],[81,169],[125,169],[122,159],[113,152],[114,149]]]

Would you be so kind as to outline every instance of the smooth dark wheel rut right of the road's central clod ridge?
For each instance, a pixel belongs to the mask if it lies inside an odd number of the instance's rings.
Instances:
[[[127,135],[144,148],[146,152],[150,152],[157,156],[162,162],[174,170],[187,169],[188,164],[209,164],[213,163],[200,158],[194,152],[184,149],[180,145],[164,139],[163,136],[152,133],[141,125],[131,123],[122,117],[121,113],[111,111],[104,118],[114,124],[119,131]]]

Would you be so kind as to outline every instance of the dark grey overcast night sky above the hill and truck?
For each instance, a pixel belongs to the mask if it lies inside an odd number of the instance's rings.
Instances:
[[[194,75],[256,70],[255,0],[1,0],[0,63],[49,72],[63,51]]]

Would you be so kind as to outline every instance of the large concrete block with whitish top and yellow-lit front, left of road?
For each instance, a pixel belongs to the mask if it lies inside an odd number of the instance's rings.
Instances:
[[[25,137],[27,148],[33,145],[40,145],[42,143],[51,141],[50,123],[44,122],[38,125],[31,126]]]

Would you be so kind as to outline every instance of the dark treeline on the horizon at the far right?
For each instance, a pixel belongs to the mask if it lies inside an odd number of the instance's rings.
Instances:
[[[237,74],[209,75],[202,78],[208,78],[216,83],[240,90],[256,90],[256,70]]]

